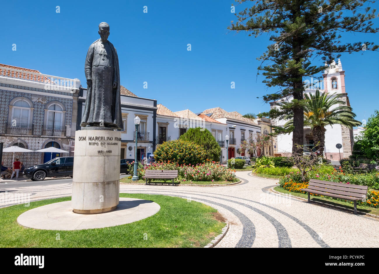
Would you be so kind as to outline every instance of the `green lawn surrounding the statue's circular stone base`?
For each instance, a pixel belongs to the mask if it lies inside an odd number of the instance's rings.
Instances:
[[[179,197],[121,193],[154,201],[161,209],[153,216],[121,226],[87,230],[40,230],[20,226],[17,217],[35,207],[70,201],[71,197],[31,202],[0,209],[0,247],[12,248],[167,248],[202,247],[225,226],[216,209]],[[217,218],[217,220],[216,220]],[[218,221],[221,220],[221,221]],[[56,240],[59,233],[60,240]],[[144,240],[147,237],[147,240]]]

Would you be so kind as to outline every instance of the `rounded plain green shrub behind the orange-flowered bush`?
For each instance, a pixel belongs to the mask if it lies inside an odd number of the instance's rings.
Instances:
[[[180,136],[180,140],[194,142],[205,150],[205,157],[215,162],[220,161],[221,148],[208,129],[190,128]]]

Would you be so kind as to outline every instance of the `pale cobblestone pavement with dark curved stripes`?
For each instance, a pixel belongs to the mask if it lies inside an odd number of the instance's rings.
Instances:
[[[121,184],[120,192],[179,196],[216,208],[230,222],[216,248],[379,247],[379,223],[375,218],[274,194],[268,189],[277,181],[253,177],[251,171],[238,172],[237,176],[242,183],[232,186]],[[30,193],[30,200],[35,201],[70,196],[71,188],[71,183],[25,186],[8,188],[7,195]],[[10,204],[11,199],[0,199],[0,207]]]

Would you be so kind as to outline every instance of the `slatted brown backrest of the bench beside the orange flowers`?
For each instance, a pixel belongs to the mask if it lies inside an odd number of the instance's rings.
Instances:
[[[310,179],[308,189],[365,199],[368,186]],[[312,192],[312,191],[311,191]]]

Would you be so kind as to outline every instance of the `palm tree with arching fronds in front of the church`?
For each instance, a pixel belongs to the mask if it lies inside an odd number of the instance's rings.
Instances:
[[[353,126],[360,126],[362,123],[354,119],[356,114],[352,112],[350,106],[346,106],[343,100],[339,98],[342,94],[321,94],[316,90],[314,95],[304,93],[304,126],[310,126],[315,143],[315,151],[324,151],[325,146],[325,126],[335,124],[347,126],[352,129]],[[336,107],[333,107],[337,105]],[[288,121],[284,128],[293,128],[293,115],[288,115],[285,119]]]

